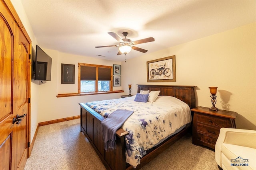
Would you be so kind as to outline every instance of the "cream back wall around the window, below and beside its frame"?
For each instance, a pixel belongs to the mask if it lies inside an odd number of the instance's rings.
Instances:
[[[78,92],[78,63],[113,66],[113,64],[121,64],[121,62],[66,54],[50,49],[43,50],[52,58],[52,74],[51,81],[39,85],[39,122],[80,115],[79,103],[120,98],[120,95],[124,94],[114,93],[57,98],[57,94]],[[62,63],[75,65],[75,84],[61,84]],[[122,90],[122,87],[114,87],[113,90]]]

